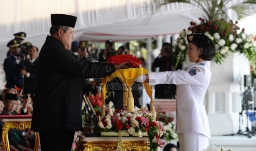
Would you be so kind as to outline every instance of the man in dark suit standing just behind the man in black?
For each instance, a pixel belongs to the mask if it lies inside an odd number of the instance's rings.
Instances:
[[[24,95],[31,95],[34,100],[35,88],[36,88],[36,68],[37,68],[37,53],[38,48],[35,46],[27,47],[29,59],[25,59],[22,64],[21,74],[24,77],[23,91]]]

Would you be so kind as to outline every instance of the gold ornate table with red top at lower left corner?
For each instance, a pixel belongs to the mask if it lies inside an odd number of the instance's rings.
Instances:
[[[2,142],[5,151],[10,151],[8,131],[10,129],[25,130],[31,127],[31,115],[1,115],[3,125]],[[39,148],[39,133],[35,132],[35,148]]]

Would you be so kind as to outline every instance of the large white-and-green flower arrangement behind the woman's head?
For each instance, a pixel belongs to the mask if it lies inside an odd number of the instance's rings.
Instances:
[[[214,61],[216,63],[221,63],[228,55],[236,52],[246,55],[250,62],[255,63],[256,42],[254,41],[254,36],[244,33],[244,28],[238,33],[238,22],[233,24],[232,21],[227,22],[222,20],[227,25],[226,30],[224,31],[221,28],[221,25],[215,24],[213,21],[202,18],[199,18],[199,20],[200,24],[197,25],[195,22],[190,22],[188,30],[183,30],[179,34],[176,44],[174,45],[177,62],[186,60],[186,35],[190,33],[203,33],[208,36],[215,45],[217,54],[214,57]]]

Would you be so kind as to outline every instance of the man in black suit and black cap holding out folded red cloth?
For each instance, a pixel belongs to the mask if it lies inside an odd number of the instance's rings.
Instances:
[[[41,150],[68,150],[75,131],[82,130],[81,78],[100,78],[126,65],[79,61],[71,47],[77,17],[51,14],[51,36],[46,37],[37,65],[31,130],[39,132]]]

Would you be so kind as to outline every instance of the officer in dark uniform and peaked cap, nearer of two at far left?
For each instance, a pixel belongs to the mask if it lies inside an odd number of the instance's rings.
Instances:
[[[19,39],[12,39],[7,44],[10,55],[4,60],[3,67],[6,73],[6,88],[22,87],[22,75],[19,71],[17,59],[20,51]]]

